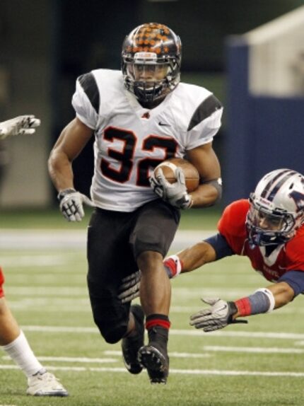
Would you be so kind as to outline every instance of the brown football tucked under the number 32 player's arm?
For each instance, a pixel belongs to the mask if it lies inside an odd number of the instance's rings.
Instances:
[[[197,168],[189,161],[182,158],[171,158],[160,163],[154,169],[154,174],[157,176],[158,169],[163,170],[163,174],[170,183],[176,182],[175,170],[176,168],[182,168],[185,174],[186,186],[188,192],[193,192],[199,186],[199,173]]]

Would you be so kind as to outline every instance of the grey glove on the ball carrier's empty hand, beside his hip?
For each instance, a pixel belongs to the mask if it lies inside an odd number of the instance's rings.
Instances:
[[[93,202],[75,189],[64,189],[57,196],[59,208],[67,221],[81,221],[84,217],[83,203],[94,207]]]

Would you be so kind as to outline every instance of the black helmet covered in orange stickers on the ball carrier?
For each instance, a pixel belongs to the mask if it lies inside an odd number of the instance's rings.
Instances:
[[[159,23],[139,25],[127,35],[122,45],[122,74],[127,90],[142,103],[165,98],[180,81],[182,43],[173,30]],[[136,77],[144,66],[163,67],[163,77]]]

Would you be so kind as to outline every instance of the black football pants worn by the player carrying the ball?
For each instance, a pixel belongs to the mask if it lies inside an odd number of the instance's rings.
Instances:
[[[107,342],[127,330],[130,303],[117,298],[122,278],[136,272],[136,257],[147,250],[165,257],[180,211],[161,199],[131,213],[95,209],[88,226],[88,291],[93,318]]]

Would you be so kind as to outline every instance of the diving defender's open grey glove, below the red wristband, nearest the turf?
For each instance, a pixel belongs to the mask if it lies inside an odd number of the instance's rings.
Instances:
[[[202,328],[205,332],[219,330],[231,323],[248,323],[247,320],[233,320],[238,313],[234,302],[226,302],[220,298],[201,299],[211,307],[205,308],[190,316],[190,325]]]

